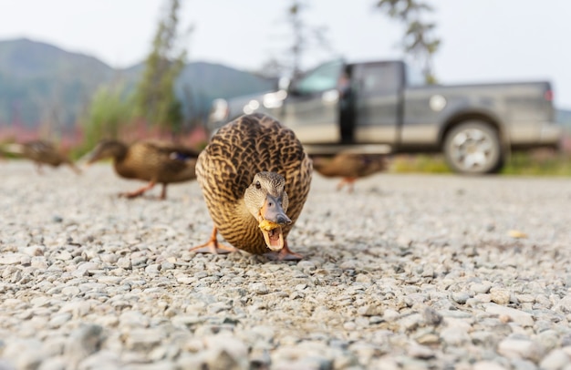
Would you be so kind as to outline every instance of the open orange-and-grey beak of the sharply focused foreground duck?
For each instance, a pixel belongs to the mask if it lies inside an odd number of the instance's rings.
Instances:
[[[265,245],[272,251],[280,251],[284,248],[284,231],[282,226],[292,223],[285,214],[280,202],[272,195],[265,198],[264,205],[260,209],[259,227],[264,234]]]

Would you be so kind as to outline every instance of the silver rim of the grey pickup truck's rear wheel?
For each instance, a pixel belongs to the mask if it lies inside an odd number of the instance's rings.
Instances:
[[[482,170],[493,157],[493,139],[479,129],[465,129],[452,140],[452,159],[463,170]]]

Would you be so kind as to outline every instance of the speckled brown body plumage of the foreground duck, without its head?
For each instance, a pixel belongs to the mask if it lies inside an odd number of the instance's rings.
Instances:
[[[294,132],[260,113],[243,116],[220,128],[196,165],[206,205],[224,239],[255,254],[270,252],[258,222],[245,211],[244,191],[261,171],[285,178],[289,198],[284,237],[295,224],[311,183],[311,159]]]

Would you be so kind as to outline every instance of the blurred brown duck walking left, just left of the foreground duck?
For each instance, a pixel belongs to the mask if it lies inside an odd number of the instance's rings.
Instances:
[[[139,190],[121,193],[135,198],[161,183],[161,199],[167,196],[167,185],[196,178],[194,168],[198,151],[168,142],[147,140],[127,145],[119,140],[101,140],[85,160],[88,165],[99,159],[113,159],[115,172],[125,179],[145,180],[149,183]]]

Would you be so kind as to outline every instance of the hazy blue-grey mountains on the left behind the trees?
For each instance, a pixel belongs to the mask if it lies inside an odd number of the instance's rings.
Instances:
[[[71,128],[102,84],[123,79],[135,86],[144,69],[124,69],[96,57],[63,50],[26,38],[0,41],[0,128],[39,124]],[[270,90],[274,81],[232,67],[192,62],[177,80],[186,118],[204,118],[213,98],[233,98]]]

